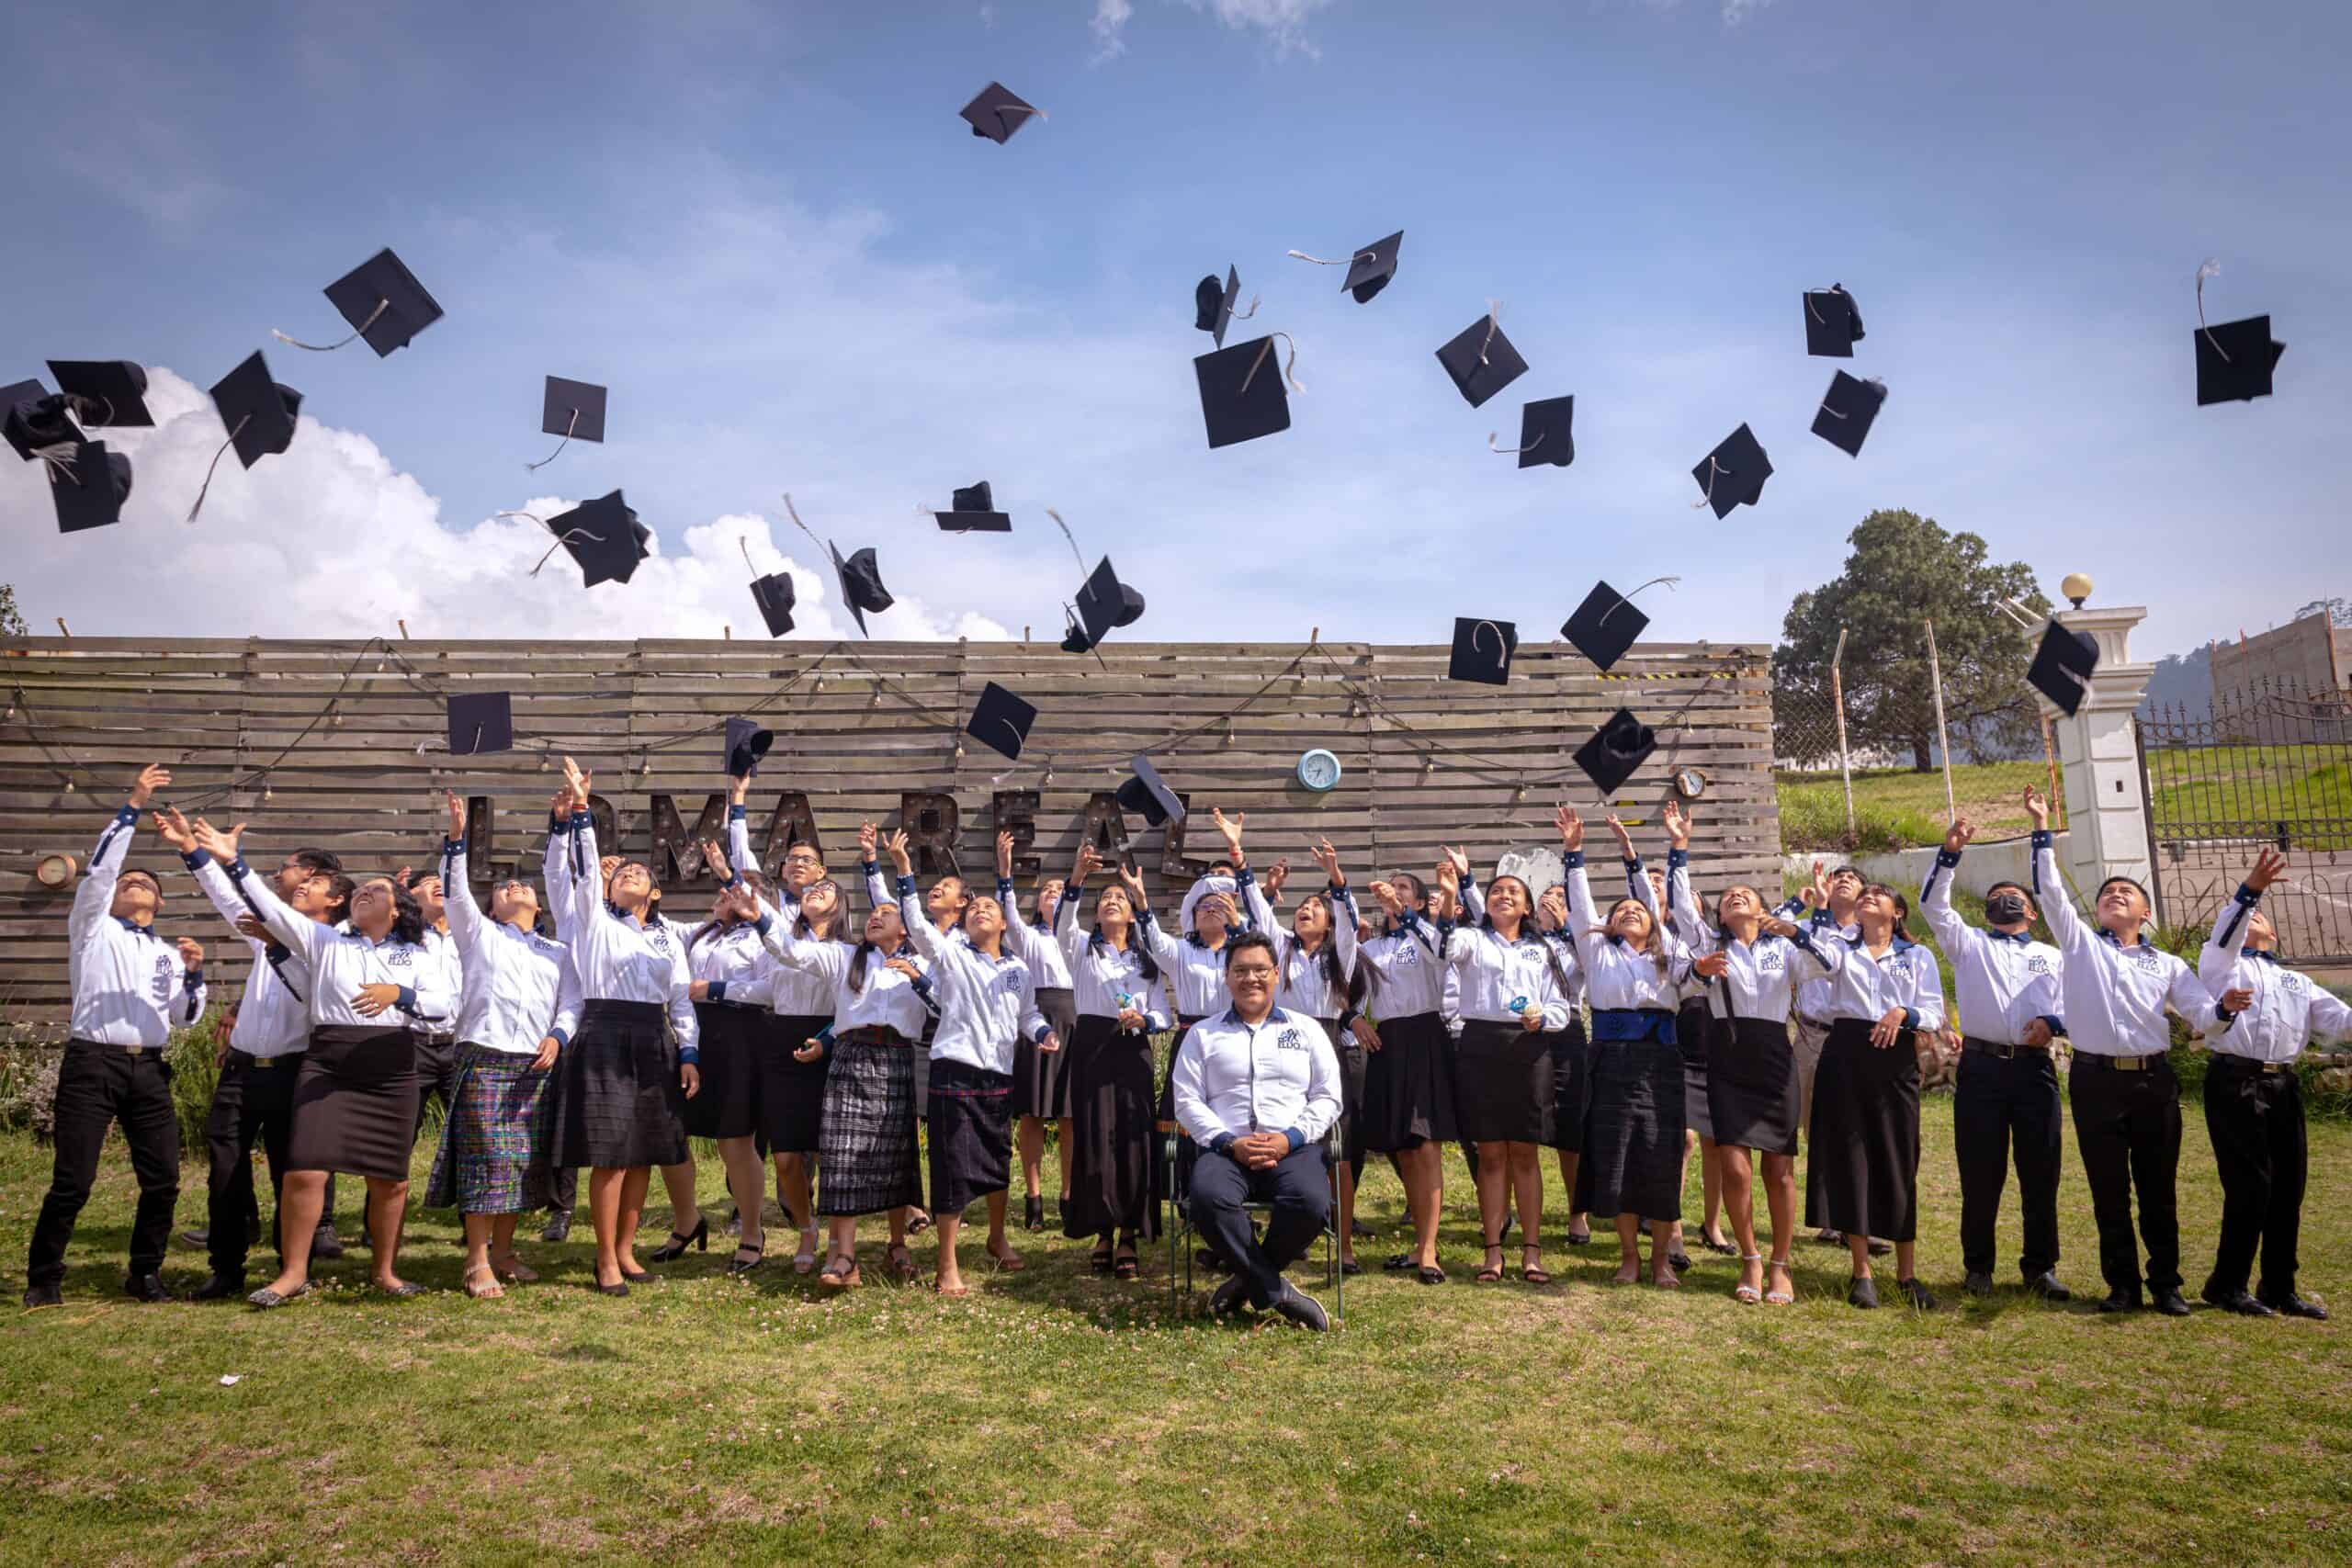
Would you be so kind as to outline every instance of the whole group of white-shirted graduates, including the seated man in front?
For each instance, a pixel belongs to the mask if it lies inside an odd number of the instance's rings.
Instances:
[[[1477,1185],[1477,1281],[1505,1279],[1512,1225],[1517,1274],[1550,1281],[1552,1150],[1571,1194],[1566,1239],[1588,1241],[1590,1215],[1613,1218],[1616,1281],[1677,1288],[1696,1147],[1703,1246],[1738,1258],[1738,1302],[1788,1305],[1802,1143],[1806,1225],[1849,1248],[1846,1300],[1879,1305],[1872,1260],[1891,1251],[1900,1300],[1936,1305],[1915,1237],[1919,1051],[1945,1032],[1943,976],[1907,931],[1910,900],[1851,867],[1816,867],[1811,886],[1778,905],[1743,884],[1703,903],[1689,877],[1691,818],[1668,802],[1661,870],[1646,870],[1609,818],[1623,891],[1599,905],[1585,823],[1562,806],[1562,882],[1541,893],[1512,875],[1479,884],[1468,858],[1446,851],[1428,877],[1369,882],[1367,912],[1322,842],[1324,886],[1284,919],[1287,863],[1261,879],[1242,818],[1216,811],[1225,856],[1164,917],[1131,865],[1096,882],[1105,863],[1091,842],[1068,879],[1040,882],[1023,910],[1009,835],[997,835],[995,889],[955,875],[917,889],[906,835],[868,823],[861,922],[816,844],[757,863],[750,778],[729,783],[727,844],[703,844],[720,891],[689,929],[659,912],[647,865],[597,844],[590,776],[572,759],[548,813],[546,910],[517,877],[494,882],[485,907],[456,797],[437,877],[355,879],[318,849],[256,870],[242,825],[223,832],[155,806],[169,773],[141,771],[73,900],[56,1175],[33,1232],[26,1305],[59,1300],[66,1244],[113,1124],[141,1192],[127,1288],[167,1298],[179,1133],[165,1046],[202,1018],[207,987],[202,947],[153,931],[155,877],[125,870],[143,816],[254,954],[212,1105],[212,1276],[198,1298],[280,1307],[306,1295],[334,1173],[367,1185],[374,1286],[419,1293],[400,1276],[400,1237],[414,1143],[437,1091],[445,1119],[426,1206],[463,1215],[463,1288],[477,1298],[536,1279],[515,1251],[517,1222],[550,1204],[567,1222],[576,1171],[588,1171],[597,1291],[626,1295],[649,1279],[635,1237],[654,1171],[673,1225],[652,1262],[708,1246],[689,1138],[717,1140],[736,1206],[731,1272],[769,1260],[764,1152],[800,1229],[797,1272],[828,1288],[861,1284],[858,1220],[882,1215],[887,1269],[915,1279],[908,1234],[936,1222],[934,1284],[967,1295],[964,1213],[983,1204],[990,1265],[1021,1269],[1007,1229],[1014,1168],[1025,1229],[1042,1229],[1044,1133],[1058,1124],[1063,1234],[1089,1244],[1098,1272],[1134,1279],[1164,1204],[1183,1206],[1202,1262],[1228,1272],[1211,1295],[1218,1314],[1327,1326],[1284,1267],[1336,1229],[1343,1267],[1357,1269],[1352,1239],[1369,1227],[1355,1222],[1355,1185],[1369,1154],[1388,1157],[1406,1194],[1411,1244],[1388,1267],[1446,1284],[1442,1150],[1456,1140]],[[2293,1063],[2314,1034],[2352,1032],[2352,1011],[2274,959],[2260,896],[2281,858],[2253,865],[2190,969],[2145,940],[2147,893],[2129,877],[2100,884],[2084,919],[2060,884],[2046,804],[2027,792],[2025,806],[2032,886],[1987,889],[1985,926],[1952,910],[1966,820],[1922,891],[1955,966],[1964,1041],[1964,1288],[1992,1291],[2013,1157],[2023,1286],[2070,1295],[2056,1274],[2063,1039],[2103,1307],[2190,1312],[2173,1211],[2171,1009],[2211,1048],[2204,1107],[2225,1204],[2204,1298],[2324,1316],[2296,1291],[2305,1147]],[[2056,945],[2032,938],[2037,917]],[[1162,1070],[1152,1041],[1169,1030]],[[254,1145],[278,1187],[278,1274],[247,1293]],[[1755,1220],[1759,1178],[1769,1255]],[[550,1227],[560,1234],[562,1222]]]

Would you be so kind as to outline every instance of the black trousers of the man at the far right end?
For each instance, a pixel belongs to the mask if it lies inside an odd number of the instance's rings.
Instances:
[[[2244,1291],[2253,1253],[2263,1251],[2265,1302],[2296,1293],[2296,1241],[2303,1232],[2303,1084],[2293,1070],[2263,1072],[2260,1063],[2213,1056],[2206,1067],[2206,1133],[2220,1166],[2220,1246],[2213,1248],[2209,1295]]]

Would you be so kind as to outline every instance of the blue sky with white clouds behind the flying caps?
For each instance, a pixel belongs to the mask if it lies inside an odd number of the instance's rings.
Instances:
[[[811,559],[790,489],[880,548],[877,635],[1058,630],[1054,505],[1152,639],[1550,637],[1595,576],[1679,571],[1651,635],[1740,642],[1910,505],[2180,651],[2352,588],[2347,73],[2345,7],[2180,0],[99,5],[0,61],[0,378],[268,348],[318,423],[191,529],[221,428],[158,376],[127,527],[56,538],[9,465],[0,576],[89,632],[743,632],[739,550]],[[990,78],[1049,120],[969,136]],[[1395,228],[1369,306],[1284,259]],[[381,244],[447,320],[381,362],[268,339],[339,336],[318,289]],[[2288,343],[2270,400],[2194,407],[2204,256],[2211,317]],[[1228,263],[1308,390],[1209,451],[1190,294]],[[1889,383],[1858,461],[1809,435],[1832,280]],[[1489,299],[1534,369],[1470,409],[1432,350]],[[548,371],[614,386],[612,440],[529,475]],[[1486,451],[1566,393],[1573,468]],[[1743,421],[1776,475],[1715,522],[1689,468]],[[1009,538],[917,517],[981,477]],[[614,487],[659,569],[522,578],[492,515]]]

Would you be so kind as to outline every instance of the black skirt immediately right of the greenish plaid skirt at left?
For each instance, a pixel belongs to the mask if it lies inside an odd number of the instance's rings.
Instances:
[[[687,1095],[663,1023],[659,1001],[581,1009],[581,1032],[555,1058],[550,1166],[635,1171],[687,1159]]]

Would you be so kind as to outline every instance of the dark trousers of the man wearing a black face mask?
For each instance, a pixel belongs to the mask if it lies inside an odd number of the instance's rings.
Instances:
[[[1992,1272],[1992,1227],[2002,1218],[2016,1147],[2025,1220],[2018,1269],[2039,1279],[2058,1267],[2058,1065],[2051,1053],[2018,1046],[2004,1058],[1971,1039],[1959,1053],[1952,1143],[1959,1147],[1962,1265],[1971,1274]]]

